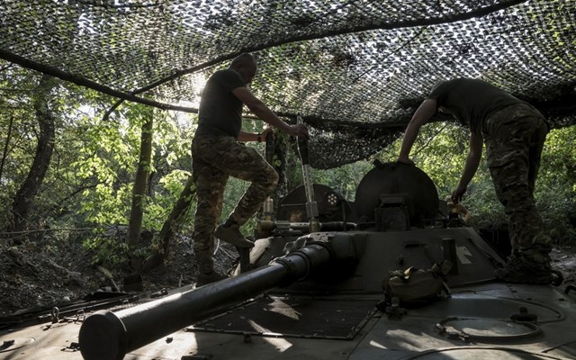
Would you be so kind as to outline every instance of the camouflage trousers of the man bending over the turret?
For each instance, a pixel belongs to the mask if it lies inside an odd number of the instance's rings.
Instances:
[[[547,133],[542,114],[527,104],[491,114],[482,128],[496,195],[509,216],[512,249],[536,262],[548,262],[552,248],[533,196]]]

